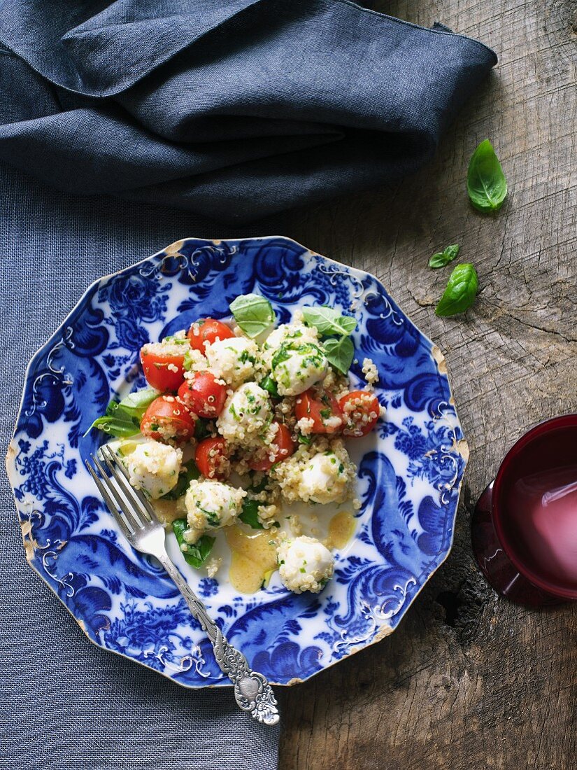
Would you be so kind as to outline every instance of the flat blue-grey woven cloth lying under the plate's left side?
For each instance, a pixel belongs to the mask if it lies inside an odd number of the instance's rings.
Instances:
[[[189,213],[56,192],[5,163],[0,202],[6,447],[28,360],[89,283],[182,236],[232,233]],[[276,768],[278,728],[239,711],[230,688],[185,690],[91,644],[26,564],[5,476],[0,506],[0,770]]]

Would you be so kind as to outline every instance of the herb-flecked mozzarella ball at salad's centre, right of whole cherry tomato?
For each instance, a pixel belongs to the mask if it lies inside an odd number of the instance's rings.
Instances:
[[[271,420],[271,402],[266,390],[256,383],[245,383],[225,401],[216,427],[231,444],[247,445],[263,434]]]

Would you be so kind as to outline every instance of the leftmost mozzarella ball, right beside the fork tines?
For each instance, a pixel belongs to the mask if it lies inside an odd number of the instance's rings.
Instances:
[[[130,483],[135,489],[144,490],[152,500],[176,486],[182,450],[161,444],[159,441],[144,441],[125,457]]]

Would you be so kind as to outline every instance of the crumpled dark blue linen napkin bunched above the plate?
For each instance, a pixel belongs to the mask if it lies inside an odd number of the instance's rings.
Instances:
[[[236,223],[414,172],[497,61],[348,0],[0,7],[0,159]]]

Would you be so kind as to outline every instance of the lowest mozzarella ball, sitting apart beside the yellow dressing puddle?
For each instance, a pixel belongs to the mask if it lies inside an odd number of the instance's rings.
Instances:
[[[295,594],[318,594],[332,577],[335,559],[314,537],[296,537],[278,546],[278,574],[282,584]]]

